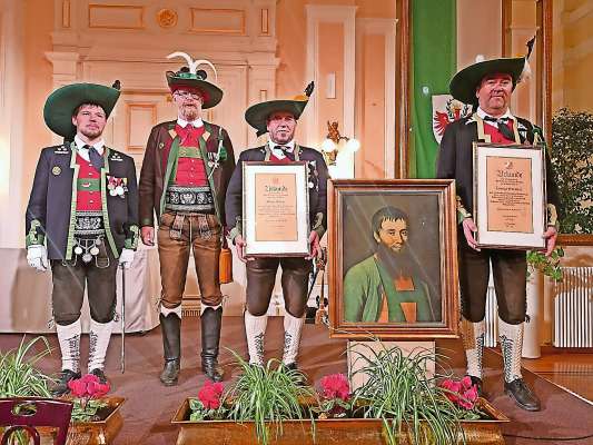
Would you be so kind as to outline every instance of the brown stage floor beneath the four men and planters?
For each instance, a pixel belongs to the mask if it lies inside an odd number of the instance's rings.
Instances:
[[[281,318],[271,317],[266,336],[266,355],[279,355],[283,343]],[[113,387],[113,394],[127,398],[122,407],[123,428],[115,444],[175,444],[177,429],[170,424],[181,400],[196,396],[205,380],[199,368],[199,319],[187,317],[182,320],[181,376],[178,386],[164,387],[158,380],[162,366],[162,346],[160,328],[146,335],[129,335],[126,342],[126,373],[119,372],[120,340],[111,338],[107,357],[106,373]],[[21,339],[20,334],[1,334],[0,348],[7,350]],[[60,367],[57,338],[48,336],[55,353],[40,366],[46,372],[56,372]],[[223,323],[221,345],[243,356],[247,355],[245,332],[241,317],[225,317]],[[346,372],[346,342],[329,339],[324,326],[305,325],[303,332],[300,367],[312,379],[318,382],[324,375]],[[449,366],[458,374],[464,372],[464,354],[461,340],[437,342],[439,352],[451,357]],[[88,350],[88,336],[83,337],[82,357]],[[228,350],[221,353],[221,364],[227,367],[225,382],[236,374],[231,369],[233,357]],[[512,422],[504,427],[507,444],[593,444],[593,437],[570,439],[593,435],[593,405],[550,382],[550,375],[542,378],[524,370],[526,380],[532,384],[542,398],[540,413],[527,413],[517,407],[503,394],[502,359],[495,350],[485,353],[485,390],[488,399],[507,415]],[[527,366],[536,372],[551,367],[550,363],[528,360]],[[553,378],[552,378],[553,379]],[[570,386],[570,385],[566,385]],[[590,389],[589,389],[590,390]],[[590,393],[587,393],[590,394]]]

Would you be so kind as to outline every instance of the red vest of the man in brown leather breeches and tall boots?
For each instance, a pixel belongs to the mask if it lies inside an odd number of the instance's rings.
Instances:
[[[179,148],[182,147],[186,150],[189,149],[197,150],[197,152],[200,151],[199,137],[204,135],[204,126],[189,129],[189,126],[184,128],[179,125],[176,125],[175,131],[177,135],[179,135]],[[208,185],[204,160],[179,156],[177,159],[177,171],[174,181],[175,185],[184,187],[204,187]]]

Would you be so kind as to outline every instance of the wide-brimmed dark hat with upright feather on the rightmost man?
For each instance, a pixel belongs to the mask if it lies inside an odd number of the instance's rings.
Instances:
[[[451,95],[464,103],[476,102],[476,88],[482,79],[488,75],[504,73],[513,79],[513,89],[523,80],[524,72],[528,70],[527,59],[531,56],[535,38],[527,42],[527,55],[525,57],[500,58],[481,60],[458,71],[448,89]]]

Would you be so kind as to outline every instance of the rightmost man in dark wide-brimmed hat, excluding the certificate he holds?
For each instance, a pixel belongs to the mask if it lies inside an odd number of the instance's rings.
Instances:
[[[530,42],[530,52],[533,41]],[[437,178],[454,178],[457,187],[459,287],[462,298],[461,330],[467,358],[467,375],[482,390],[484,316],[490,264],[498,303],[498,335],[504,360],[504,390],[527,411],[538,411],[540,400],[521,374],[523,323],[526,318],[526,259],[524,250],[480,249],[473,211],[472,144],[500,145],[543,142],[541,130],[510,110],[511,95],[528,70],[526,57],[476,62],[455,75],[449,89],[453,97],[474,105],[471,117],[447,126],[437,161]],[[557,191],[546,154],[546,191],[548,202],[546,255],[556,241]]]

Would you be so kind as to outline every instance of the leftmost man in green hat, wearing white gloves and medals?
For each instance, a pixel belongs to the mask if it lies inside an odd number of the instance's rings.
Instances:
[[[115,87],[115,88],[113,88]],[[118,265],[129,268],[138,245],[136,167],[106,146],[102,132],[119,98],[113,87],[75,83],[53,91],[47,126],[65,144],[41,151],[26,215],[27,259],[51,267],[52,310],[62,356],[53,388],[65,394],[80,378],[80,308],[88,284],[88,369],[106,383],[105,356],[116,310]],[[47,246],[47,247],[46,247]]]

